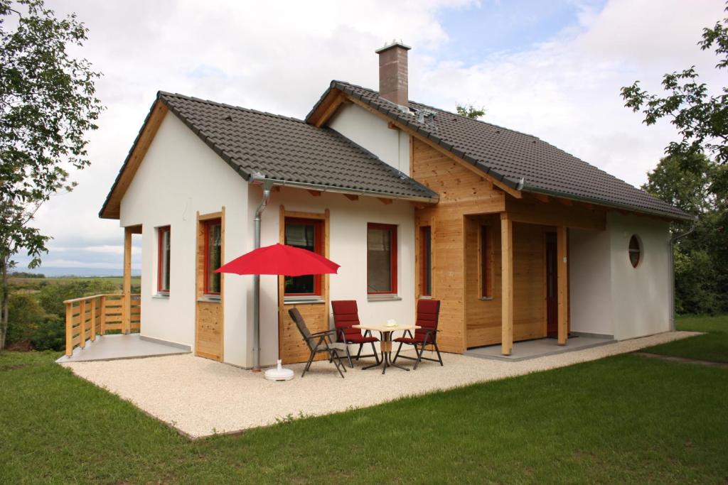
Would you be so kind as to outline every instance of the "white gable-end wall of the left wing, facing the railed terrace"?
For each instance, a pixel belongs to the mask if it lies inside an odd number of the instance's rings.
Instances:
[[[248,183],[174,114],[162,121],[121,205],[122,226],[141,224],[141,333],[194,348],[197,211],[225,207],[225,260],[252,249]],[[157,297],[157,230],[171,226],[170,296]],[[224,360],[245,365],[250,281],[225,276]],[[243,322],[241,324],[241,322]]]

